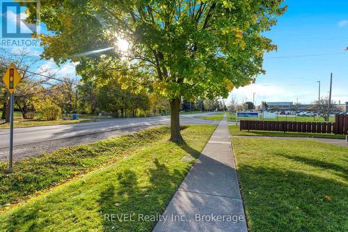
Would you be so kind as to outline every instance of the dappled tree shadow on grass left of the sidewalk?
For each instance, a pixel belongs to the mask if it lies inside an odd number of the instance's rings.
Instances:
[[[152,162],[146,176],[129,169],[116,173],[117,183],[100,193],[103,231],[152,231],[155,227],[156,216],[164,212],[189,168],[169,169],[157,158]],[[145,220],[146,216],[150,219]]]

